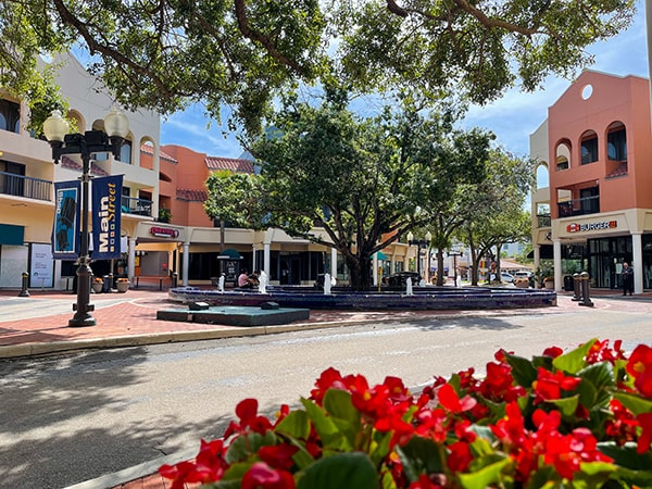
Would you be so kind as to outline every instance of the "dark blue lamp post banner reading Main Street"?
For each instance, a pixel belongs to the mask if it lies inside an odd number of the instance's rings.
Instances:
[[[120,258],[123,175],[92,179],[92,259]]]

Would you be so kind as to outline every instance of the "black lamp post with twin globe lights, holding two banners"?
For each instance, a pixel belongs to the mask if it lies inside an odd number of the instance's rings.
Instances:
[[[60,111],[52,111],[43,123],[43,134],[52,147],[52,160],[59,163],[64,154],[79,154],[82,156],[82,234],[77,268],[77,303],[73,304],[75,315],[68,321],[68,326],[95,326],[96,318],[91,315],[95,305],[90,303],[90,256],[88,253],[88,213],[90,181],[90,156],[93,153],[113,153],[120,158],[120,150],[124,138],[129,131],[127,117],[116,109],[104,117],[104,130],[87,130],[84,134],[67,134],[70,125],[61,116]]]

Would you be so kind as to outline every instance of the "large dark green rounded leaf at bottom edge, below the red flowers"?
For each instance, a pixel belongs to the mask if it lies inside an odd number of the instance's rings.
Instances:
[[[308,467],[297,489],[378,489],[378,474],[362,452],[338,453]]]

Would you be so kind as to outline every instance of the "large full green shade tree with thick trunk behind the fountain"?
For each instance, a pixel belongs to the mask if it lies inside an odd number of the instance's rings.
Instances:
[[[362,118],[342,91],[326,91],[321,106],[290,101],[253,145],[261,174],[240,187],[256,190],[244,197],[234,185],[244,177],[213,175],[205,209],[336,248],[351,286],[365,290],[373,254],[429,221],[419,208],[426,196],[446,200],[456,185],[481,178],[491,136],[453,130],[448,115],[414,110]]]

